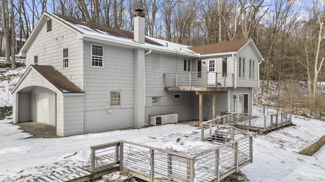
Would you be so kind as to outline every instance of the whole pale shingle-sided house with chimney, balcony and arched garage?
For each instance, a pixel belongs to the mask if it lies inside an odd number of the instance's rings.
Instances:
[[[157,114],[251,113],[263,60],[252,39],[189,47],[145,36],[143,17],[136,10],[132,33],[43,13],[19,53],[28,68],[12,90],[13,122],[67,136],[143,127]]]

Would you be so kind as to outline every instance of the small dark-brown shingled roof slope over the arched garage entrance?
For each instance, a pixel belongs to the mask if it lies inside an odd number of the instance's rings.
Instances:
[[[62,93],[84,93],[75,83],[56,70],[53,66],[30,65]]]

